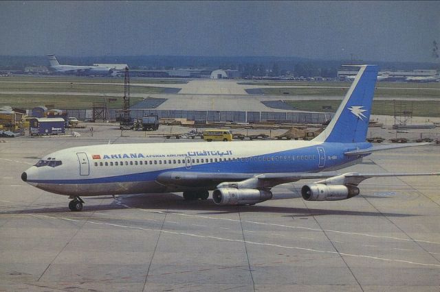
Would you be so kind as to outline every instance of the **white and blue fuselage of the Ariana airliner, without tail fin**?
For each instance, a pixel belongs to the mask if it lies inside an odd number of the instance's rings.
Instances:
[[[243,174],[316,172],[358,160],[343,154],[356,147],[369,147],[369,143],[234,141],[95,145],[56,151],[41,160],[49,162],[48,165],[31,167],[26,174],[30,184],[62,195],[161,193],[184,190],[181,186],[157,182],[158,175],[167,171],[195,175],[236,173],[237,180],[242,180]],[[50,166],[52,160],[61,163]],[[212,184],[201,186],[196,182],[186,188],[214,189],[216,185],[213,180]]]

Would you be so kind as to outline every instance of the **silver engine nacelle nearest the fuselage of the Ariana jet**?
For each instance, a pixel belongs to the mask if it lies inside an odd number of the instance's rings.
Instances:
[[[272,192],[256,188],[217,188],[212,199],[217,205],[253,205],[272,199]]]

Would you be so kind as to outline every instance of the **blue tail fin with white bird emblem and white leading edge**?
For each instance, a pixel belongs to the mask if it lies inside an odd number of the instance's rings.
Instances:
[[[378,68],[375,65],[360,65],[358,75],[336,110],[335,116],[327,128],[314,138],[314,141],[365,142],[377,71]]]

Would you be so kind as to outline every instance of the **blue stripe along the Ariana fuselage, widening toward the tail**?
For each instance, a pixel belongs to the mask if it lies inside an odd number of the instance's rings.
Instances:
[[[264,154],[260,156],[250,156],[233,161],[209,162],[201,165],[192,165],[191,169],[185,167],[175,167],[169,169],[161,169],[159,171],[144,171],[141,173],[130,173],[123,175],[114,175],[104,178],[81,178],[75,180],[28,180],[32,183],[41,184],[98,184],[110,182],[148,182],[156,180],[160,173],[168,171],[185,171],[185,172],[203,172],[203,173],[285,173],[285,172],[314,172],[323,171],[328,167],[335,167],[351,160],[358,159],[353,156],[344,156],[345,151],[353,149],[364,149],[370,147],[370,143],[322,143],[316,146],[309,146],[300,149],[290,149],[287,151],[274,152],[272,154]],[[325,149],[326,156],[338,156],[338,160],[327,160],[325,168],[318,167],[319,154],[317,147]],[[263,158],[278,156],[278,160],[263,161]],[[280,160],[279,157],[294,156],[293,160]],[[299,160],[298,157],[299,156]],[[303,156],[303,159],[301,157]],[[305,159],[307,156],[307,159]],[[195,156],[192,158],[197,159]],[[261,158],[261,160],[260,160]],[[309,159],[311,158],[311,159]],[[201,159],[200,156],[198,158]],[[98,167],[104,169],[105,167]],[[94,168],[92,168],[94,169]]]

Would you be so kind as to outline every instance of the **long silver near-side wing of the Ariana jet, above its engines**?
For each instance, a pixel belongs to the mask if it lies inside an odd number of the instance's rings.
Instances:
[[[166,171],[156,181],[164,186],[180,187],[232,187],[232,188],[272,188],[286,182],[320,179],[320,184],[351,184],[357,186],[368,178],[394,176],[440,175],[437,173],[337,173],[323,171],[319,173],[205,173],[195,171]]]

